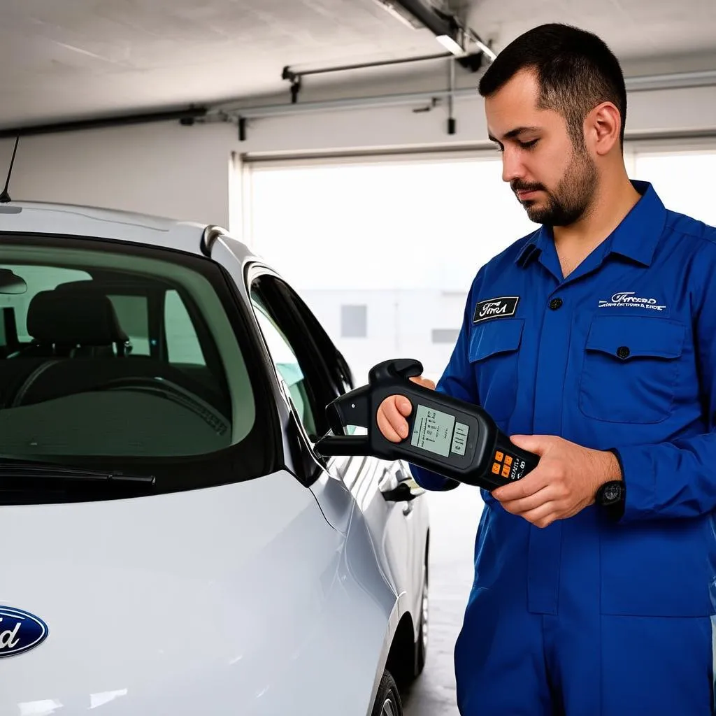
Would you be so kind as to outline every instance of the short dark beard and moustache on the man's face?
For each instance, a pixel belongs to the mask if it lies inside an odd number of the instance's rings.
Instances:
[[[511,188],[514,192],[541,190],[546,193],[546,200],[521,201],[530,221],[548,226],[569,226],[579,221],[589,210],[596,193],[597,180],[594,161],[586,150],[576,149],[555,190],[519,179],[511,182]]]

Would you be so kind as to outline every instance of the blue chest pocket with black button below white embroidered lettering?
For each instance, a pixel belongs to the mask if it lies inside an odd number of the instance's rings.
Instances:
[[[649,423],[672,410],[686,326],[643,316],[592,321],[579,380],[579,409],[606,422]]]

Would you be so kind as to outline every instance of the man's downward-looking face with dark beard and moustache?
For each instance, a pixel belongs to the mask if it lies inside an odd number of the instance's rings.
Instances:
[[[502,178],[535,223],[568,226],[589,210],[598,174],[594,160],[554,110],[537,108],[538,85],[518,72],[485,99],[490,140],[503,155]]]

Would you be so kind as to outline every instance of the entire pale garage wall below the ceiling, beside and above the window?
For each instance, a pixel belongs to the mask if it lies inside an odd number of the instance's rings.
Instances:
[[[256,119],[248,122],[245,142],[238,141],[233,125],[183,127],[178,122],[26,137],[20,142],[11,196],[105,205],[228,226],[232,152],[255,155],[485,142],[480,97],[456,103],[458,132],[452,136],[445,132],[444,108],[422,113],[413,109],[382,107]],[[716,130],[716,89],[635,92],[629,97],[627,130]],[[11,150],[11,140],[0,141],[0,176],[4,177]]]

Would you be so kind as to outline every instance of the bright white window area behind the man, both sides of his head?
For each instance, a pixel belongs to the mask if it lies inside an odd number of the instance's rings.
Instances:
[[[625,158],[667,208],[716,224],[715,152],[635,144]],[[439,376],[480,266],[538,228],[493,151],[257,162],[247,174],[247,241],[301,292],[357,382],[394,356]],[[369,316],[365,337],[356,306]]]

